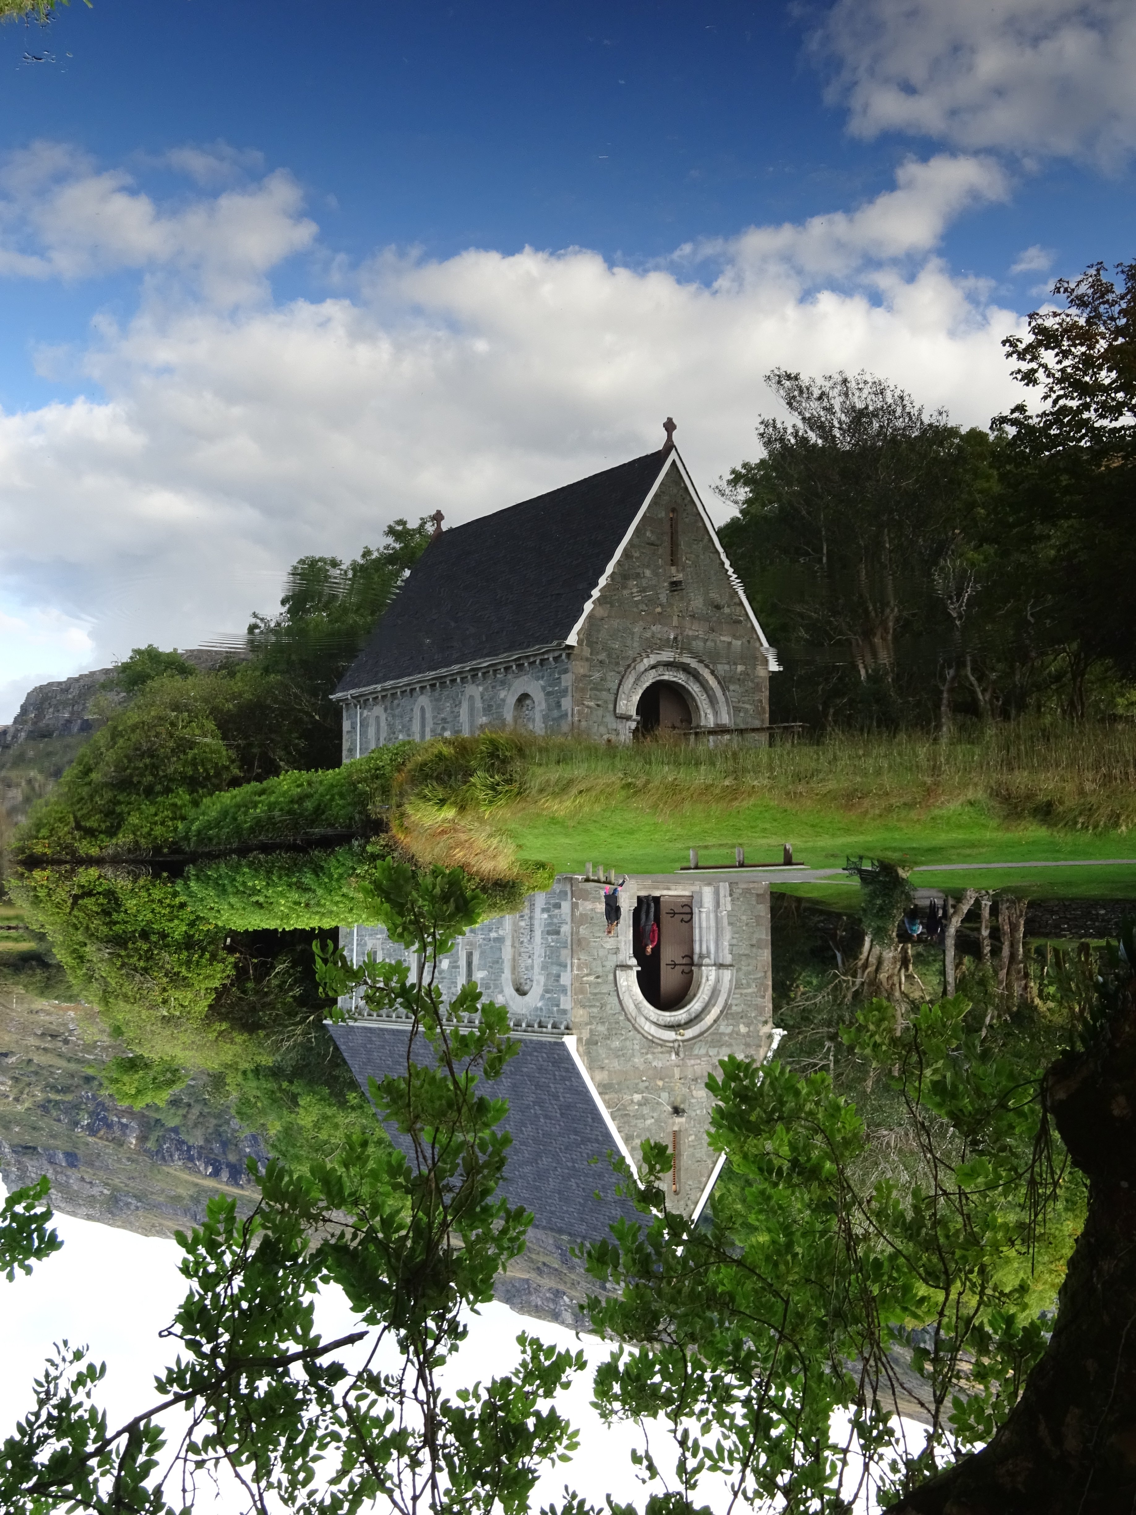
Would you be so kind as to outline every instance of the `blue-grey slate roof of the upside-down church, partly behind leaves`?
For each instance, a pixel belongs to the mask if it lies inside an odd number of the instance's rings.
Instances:
[[[407,1033],[401,1027],[356,1023],[329,1030],[364,1092],[368,1077],[406,1073]],[[642,1220],[615,1194],[606,1157],[615,1141],[562,1041],[521,1039],[521,1051],[506,1065],[494,1094],[509,1101],[504,1126],[513,1138],[504,1191],[512,1204],[533,1212],[538,1230],[601,1241],[619,1215]],[[409,1139],[388,1130],[409,1156]],[[592,1164],[591,1157],[600,1160]]]

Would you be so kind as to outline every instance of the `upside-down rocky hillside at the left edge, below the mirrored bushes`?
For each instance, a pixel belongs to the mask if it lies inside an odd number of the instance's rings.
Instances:
[[[124,1048],[94,1012],[6,992],[0,1004],[0,1173],[8,1189],[51,1180],[65,1215],[173,1236],[200,1224],[211,1195],[256,1203],[245,1173],[254,1135],[189,1085],[150,1114],[106,1098],[97,1070]]]

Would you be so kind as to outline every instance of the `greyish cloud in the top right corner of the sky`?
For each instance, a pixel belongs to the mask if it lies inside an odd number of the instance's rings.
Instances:
[[[856,136],[1103,167],[1136,147],[1131,0],[836,0],[813,44]]]

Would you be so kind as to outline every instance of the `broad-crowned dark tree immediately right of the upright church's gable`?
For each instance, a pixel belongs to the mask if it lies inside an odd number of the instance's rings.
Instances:
[[[989,439],[869,374],[774,370],[794,417],[762,418],[765,456],[730,471],[722,542],[782,648],[782,715],[925,720],[974,671],[982,551],[962,523],[992,486]]]

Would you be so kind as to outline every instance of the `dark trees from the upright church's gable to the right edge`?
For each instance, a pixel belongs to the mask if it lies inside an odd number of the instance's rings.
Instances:
[[[1062,279],[1004,345],[1036,391],[992,433],[868,374],[774,370],[789,424],[719,492],[722,542],[785,673],[776,720],[1085,717],[1136,674],[1136,264]],[[1038,403],[1039,401],[1039,403]]]

